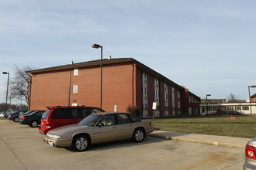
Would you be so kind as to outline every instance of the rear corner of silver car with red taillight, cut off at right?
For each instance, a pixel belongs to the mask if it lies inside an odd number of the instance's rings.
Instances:
[[[247,142],[247,145],[245,147],[245,162],[243,169],[256,169],[256,138],[253,138]]]

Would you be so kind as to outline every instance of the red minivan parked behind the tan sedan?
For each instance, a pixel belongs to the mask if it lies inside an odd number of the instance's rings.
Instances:
[[[48,131],[68,124],[77,124],[89,114],[103,112],[98,107],[47,107],[41,118],[40,134],[47,134]]]

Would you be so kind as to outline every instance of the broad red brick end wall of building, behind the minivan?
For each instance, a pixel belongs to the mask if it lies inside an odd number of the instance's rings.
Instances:
[[[70,71],[43,73],[32,76],[30,110],[45,109],[46,106],[68,105]],[[134,76],[135,77],[135,76]],[[133,66],[103,66],[102,68],[102,109],[126,111],[132,105]],[[78,93],[73,93],[78,85]],[[71,71],[71,103],[100,107],[100,69],[84,68],[78,76]]]

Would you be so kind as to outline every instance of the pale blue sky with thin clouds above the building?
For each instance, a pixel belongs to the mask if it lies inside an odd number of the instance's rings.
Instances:
[[[132,57],[201,98],[248,100],[256,85],[254,0],[0,0],[0,102],[7,76]],[[256,93],[256,89],[251,89]]]

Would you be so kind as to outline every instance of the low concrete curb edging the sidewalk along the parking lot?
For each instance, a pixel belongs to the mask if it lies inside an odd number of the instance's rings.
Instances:
[[[150,137],[154,138],[162,138],[162,139],[168,139],[168,140],[174,140],[174,141],[188,141],[188,142],[194,142],[194,143],[200,143],[200,144],[206,144],[206,145],[216,145],[216,146],[224,146],[224,147],[230,147],[230,148],[244,148],[245,145],[238,145],[238,144],[230,144],[230,143],[224,143],[219,141],[203,141],[199,139],[191,139],[191,138],[182,138],[182,137],[170,137],[170,136],[164,136],[159,134],[147,134]]]

